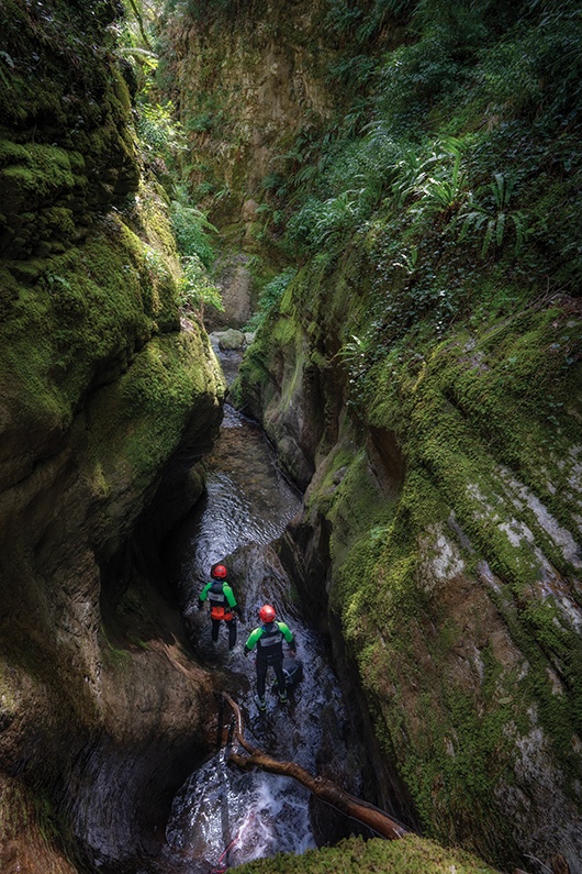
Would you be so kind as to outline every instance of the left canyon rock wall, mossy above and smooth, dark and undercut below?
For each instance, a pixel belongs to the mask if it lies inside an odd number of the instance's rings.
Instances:
[[[155,545],[200,495],[224,385],[208,336],[180,323],[121,12],[0,10],[5,872],[135,865],[214,740],[212,681],[188,657]]]

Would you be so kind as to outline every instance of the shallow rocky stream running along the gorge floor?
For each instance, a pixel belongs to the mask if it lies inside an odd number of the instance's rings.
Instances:
[[[232,384],[240,355],[217,355]],[[313,774],[325,774],[357,794],[359,770],[349,752],[348,720],[329,641],[305,624],[292,582],[272,547],[299,511],[301,496],[278,468],[261,428],[228,405],[205,464],[206,495],[172,542],[174,573],[197,655],[224,673],[254,746],[280,761],[293,760]],[[224,623],[213,644],[208,609],[197,609],[199,593],[217,561],[227,565],[243,609],[232,652]],[[290,689],[289,702],[281,705],[270,668],[267,711],[261,713],[254,700],[254,655],[245,659],[243,646],[266,602],[292,630],[304,676]],[[219,874],[254,859],[278,852],[301,854],[345,837],[346,820],[304,787],[288,777],[226,766],[228,752],[224,748],[210,757],[176,795],[166,828],[165,871]]]

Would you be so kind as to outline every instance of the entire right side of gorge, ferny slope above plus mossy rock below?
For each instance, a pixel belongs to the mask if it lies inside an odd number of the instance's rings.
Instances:
[[[281,136],[253,192],[279,273],[234,396],[268,408],[292,475],[286,411],[317,434],[306,513],[331,527],[331,608],[427,832],[527,867],[500,798],[535,732],[581,804],[582,13],[333,0],[313,15],[337,114]],[[340,378],[349,422],[327,432]],[[344,454],[371,434],[402,455],[388,499],[363,450]]]

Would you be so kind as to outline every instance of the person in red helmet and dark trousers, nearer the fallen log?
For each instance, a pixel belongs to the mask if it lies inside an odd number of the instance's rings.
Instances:
[[[281,704],[287,701],[287,684],[283,673],[283,640],[289,645],[289,653],[294,659],[296,655],[295,641],[289,627],[284,622],[276,621],[275,608],[265,604],[259,610],[260,626],[254,629],[245,643],[245,656],[257,648],[257,695],[255,700],[259,710],[267,709],[265,700],[265,685],[267,668],[270,666],[277,676],[277,688]]]

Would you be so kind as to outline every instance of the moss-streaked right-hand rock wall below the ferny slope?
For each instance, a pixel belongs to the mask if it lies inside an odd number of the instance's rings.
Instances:
[[[327,607],[342,629],[382,750],[379,803],[394,801],[395,765],[438,840],[525,870],[562,854],[580,872],[582,398],[547,352],[579,321],[564,301],[503,343],[489,324],[469,345],[454,331],[350,392],[337,350],[358,318],[345,288],[363,275],[354,253],[325,276],[304,268],[235,386],[307,486],[282,555],[314,618]],[[535,412],[550,386],[559,438]]]

